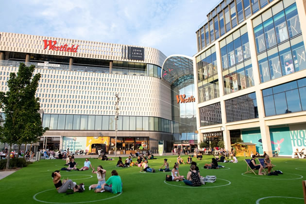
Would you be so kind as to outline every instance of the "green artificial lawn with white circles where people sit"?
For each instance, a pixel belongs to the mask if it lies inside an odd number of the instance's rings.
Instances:
[[[182,156],[184,161],[187,156]],[[170,169],[176,162],[175,156],[156,156],[157,159],[149,160],[149,166],[156,169],[156,173],[140,173],[139,167],[116,168],[118,158],[112,161],[101,161],[90,159],[92,165],[97,168],[102,165],[106,172],[106,179],[111,176],[112,170],[117,170],[123,183],[123,193],[111,194],[109,192],[95,193],[89,191],[88,186],[97,184],[97,176],[86,171],[61,171],[62,178],[69,178],[77,184],[85,183],[85,192],[66,195],[57,193],[51,178],[51,172],[60,170],[64,166],[64,160],[40,160],[26,168],[18,170],[10,176],[0,180],[0,203],[5,204],[38,204],[44,203],[232,203],[232,204],[254,204],[256,200],[263,197],[282,196],[303,198],[302,180],[306,180],[306,159],[272,158],[274,170],[282,170],[283,175],[259,176],[253,173],[241,175],[246,171],[244,157],[238,157],[238,163],[219,163],[225,166],[219,170],[205,170],[205,163],[210,163],[212,156],[204,156],[202,161],[194,160],[200,168],[201,175],[216,175],[215,183],[206,183],[201,187],[189,187],[184,182],[166,182],[166,174],[171,172],[159,172],[163,165],[163,159],[168,158]],[[85,158],[76,158],[78,168],[83,166]],[[123,161],[125,158],[122,159]],[[258,161],[256,161],[258,163]],[[190,165],[180,165],[179,172],[186,177]],[[229,168],[229,169],[228,169]],[[297,168],[297,169],[296,169]],[[255,171],[256,173],[258,171]],[[296,175],[298,174],[298,175]],[[92,177],[91,177],[92,176]],[[303,178],[301,178],[303,176]],[[285,180],[294,179],[294,180]],[[230,184],[229,184],[230,182]],[[229,184],[229,185],[228,185]],[[221,186],[221,187],[217,187]],[[42,192],[44,191],[44,192]],[[41,192],[41,193],[39,193]],[[39,193],[39,194],[37,194]],[[114,197],[112,199],[98,201]],[[96,202],[92,202],[96,201]],[[260,204],[271,203],[294,203],[303,204],[302,199],[293,198],[267,198]]]

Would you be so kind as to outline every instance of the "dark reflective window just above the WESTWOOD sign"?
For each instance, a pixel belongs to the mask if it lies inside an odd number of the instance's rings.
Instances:
[[[222,123],[220,102],[200,108],[200,123],[201,127]]]

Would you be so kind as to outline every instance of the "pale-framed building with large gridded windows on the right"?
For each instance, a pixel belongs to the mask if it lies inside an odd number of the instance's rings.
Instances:
[[[306,148],[305,0],[223,0],[196,32],[198,141]]]

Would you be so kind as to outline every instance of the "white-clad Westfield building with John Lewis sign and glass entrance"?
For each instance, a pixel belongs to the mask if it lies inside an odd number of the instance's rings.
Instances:
[[[174,144],[197,144],[191,57],[167,58],[148,47],[0,32],[0,91],[8,91],[10,72],[17,72],[21,62],[35,65],[35,73],[41,74],[36,97],[42,125],[49,130],[34,144],[36,149],[114,153],[116,93],[118,153],[140,146],[155,152],[160,140],[167,152]]]

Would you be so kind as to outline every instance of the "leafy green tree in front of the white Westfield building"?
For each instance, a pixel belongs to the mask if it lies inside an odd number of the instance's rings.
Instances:
[[[0,141],[9,145],[9,153],[13,144],[36,142],[48,128],[43,128],[39,98],[35,98],[40,73],[33,76],[35,66],[27,67],[20,63],[17,74],[10,73],[7,81],[9,90],[0,92],[0,108],[5,115],[5,121],[0,126]],[[6,169],[9,168],[10,156]]]

